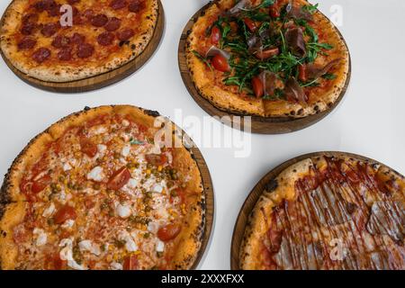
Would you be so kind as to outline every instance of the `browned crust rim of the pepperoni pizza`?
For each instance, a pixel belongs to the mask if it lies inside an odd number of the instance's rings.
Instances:
[[[152,39],[159,13],[158,0],[148,0],[147,12],[143,14],[141,25],[139,25],[140,32],[136,34],[136,37],[133,37],[128,43],[124,44],[120,52],[112,53],[105,61],[100,62],[97,59],[93,59],[86,62],[85,67],[76,67],[68,64],[38,65],[31,58],[21,57],[13,39],[13,33],[23,17],[23,9],[26,2],[27,0],[14,0],[5,11],[0,27],[0,48],[2,49],[4,58],[10,61],[18,70],[27,76],[47,82],[70,82],[97,76],[121,67],[130,62],[130,60],[137,58],[146,49],[149,41]],[[51,42],[49,39],[42,39],[42,41],[48,45]]]

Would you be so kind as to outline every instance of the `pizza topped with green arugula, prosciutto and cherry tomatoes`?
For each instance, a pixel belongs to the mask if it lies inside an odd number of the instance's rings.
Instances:
[[[349,54],[336,27],[305,0],[220,0],[193,24],[187,66],[220,110],[302,118],[336,103]]]

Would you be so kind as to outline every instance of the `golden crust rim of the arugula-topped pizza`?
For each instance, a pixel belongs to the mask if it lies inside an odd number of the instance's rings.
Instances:
[[[297,2],[308,4],[306,0],[297,0]],[[334,57],[341,58],[341,65],[335,72],[337,78],[333,80],[332,89],[329,92],[321,95],[310,94],[310,103],[302,105],[301,103],[289,103],[284,100],[270,101],[254,97],[244,99],[238,94],[231,93],[222,89],[219,85],[215,85],[212,81],[213,72],[206,69],[205,64],[193,54],[193,50],[199,46],[197,35],[205,29],[207,21],[220,14],[220,11],[229,9],[233,4],[234,1],[232,0],[221,0],[208,5],[193,24],[193,28],[186,40],[187,66],[193,84],[203,98],[222,111],[269,118],[303,118],[325,112],[338,101],[349,76],[349,52],[338,29],[319,11],[314,14],[314,19],[320,26],[324,27],[322,32],[328,35],[329,43],[337,48]]]

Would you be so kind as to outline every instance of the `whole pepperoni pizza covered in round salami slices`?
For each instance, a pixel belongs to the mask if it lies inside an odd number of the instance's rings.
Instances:
[[[62,21],[65,4],[72,23]],[[139,56],[153,36],[157,10],[157,0],[14,0],[0,26],[0,45],[28,76],[79,80]]]

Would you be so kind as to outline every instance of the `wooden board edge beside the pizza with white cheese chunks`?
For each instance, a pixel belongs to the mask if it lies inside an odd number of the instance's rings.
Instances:
[[[193,158],[197,163],[197,166],[200,169],[200,173],[202,175],[202,185],[205,193],[205,226],[202,234],[202,244],[200,251],[198,252],[198,255],[192,266],[192,269],[196,269],[197,266],[200,264],[200,261],[204,255],[205,248],[208,246],[208,243],[210,242],[213,215],[214,215],[214,194],[210,170],[208,169],[208,166],[205,163],[204,158],[202,157],[200,149],[196,148],[196,146],[194,145],[194,147],[191,148],[191,150],[193,152]]]

